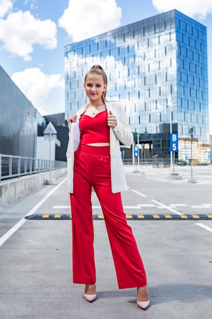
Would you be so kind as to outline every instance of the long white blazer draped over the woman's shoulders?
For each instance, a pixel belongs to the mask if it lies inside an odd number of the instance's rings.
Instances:
[[[120,144],[130,146],[133,144],[133,133],[127,121],[124,106],[119,102],[105,102],[106,110],[116,116],[117,125],[110,127],[110,169],[112,193],[119,193],[127,190],[124,166],[120,154]],[[74,152],[79,146],[80,131],[79,119],[85,112],[86,105],[77,111],[77,121],[69,124],[69,143],[67,148],[67,166],[68,166],[68,191],[73,193],[73,175],[74,175]]]

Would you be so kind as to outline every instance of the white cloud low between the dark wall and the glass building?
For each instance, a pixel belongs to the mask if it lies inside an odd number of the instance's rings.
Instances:
[[[46,75],[39,68],[25,69],[13,73],[13,82],[23,92],[40,113],[45,113],[45,100],[52,89],[64,89],[64,79],[60,74]]]

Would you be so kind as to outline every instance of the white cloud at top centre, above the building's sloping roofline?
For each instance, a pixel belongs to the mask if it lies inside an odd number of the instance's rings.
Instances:
[[[77,42],[117,28],[121,18],[115,0],[69,0],[58,25]]]

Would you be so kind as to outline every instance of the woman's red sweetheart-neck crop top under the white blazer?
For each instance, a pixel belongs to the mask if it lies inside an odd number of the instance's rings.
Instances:
[[[82,114],[79,121],[80,144],[110,143],[110,127],[107,125],[107,110],[95,117]]]

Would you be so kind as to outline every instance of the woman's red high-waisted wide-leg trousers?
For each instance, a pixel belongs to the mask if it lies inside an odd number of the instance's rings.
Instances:
[[[121,195],[111,191],[109,146],[80,145],[75,152],[74,192],[70,194],[73,282],[96,282],[92,186],[102,207],[119,289],[145,286],[145,270]]]

